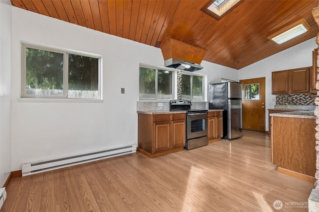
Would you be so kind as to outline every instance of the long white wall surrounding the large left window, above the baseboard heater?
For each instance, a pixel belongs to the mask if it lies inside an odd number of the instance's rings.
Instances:
[[[104,102],[18,102],[21,41],[102,55]],[[24,162],[137,143],[139,63],[164,64],[159,48],[13,6],[12,58],[12,171]]]

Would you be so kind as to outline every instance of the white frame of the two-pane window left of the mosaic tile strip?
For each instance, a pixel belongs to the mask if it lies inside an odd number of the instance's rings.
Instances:
[[[175,86],[175,79],[177,80],[177,70],[176,69],[171,69],[171,68],[167,68],[167,67],[159,67],[159,66],[151,66],[151,65],[147,65],[147,64],[141,64],[141,63],[139,66],[139,70],[140,70],[140,68],[154,69],[155,70],[155,98],[140,98],[139,97],[140,101],[169,101],[170,100],[170,99],[159,99],[158,98],[158,84],[159,84],[158,83],[158,71],[159,70],[172,72],[172,80],[171,80],[172,96],[173,96],[173,99],[176,99],[176,95],[177,95],[177,88]],[[139,77],[139,84],[140,84],[140,77]],[[139,88],[139,96],[140,96],[140,88]]]

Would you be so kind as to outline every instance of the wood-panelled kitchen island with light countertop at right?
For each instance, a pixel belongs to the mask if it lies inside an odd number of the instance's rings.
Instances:
[[[315,182],[316,116],[291,111],[271,116],[271,151],[278,172]]]

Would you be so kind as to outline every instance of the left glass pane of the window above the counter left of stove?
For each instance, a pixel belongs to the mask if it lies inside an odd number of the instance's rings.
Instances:
[[[155,69],[140,67],[140,98],[155,98]]]

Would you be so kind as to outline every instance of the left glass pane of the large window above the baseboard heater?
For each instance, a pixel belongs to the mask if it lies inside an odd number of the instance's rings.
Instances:
[[[25,94],[63,96],[63,54],[26,48]]]

